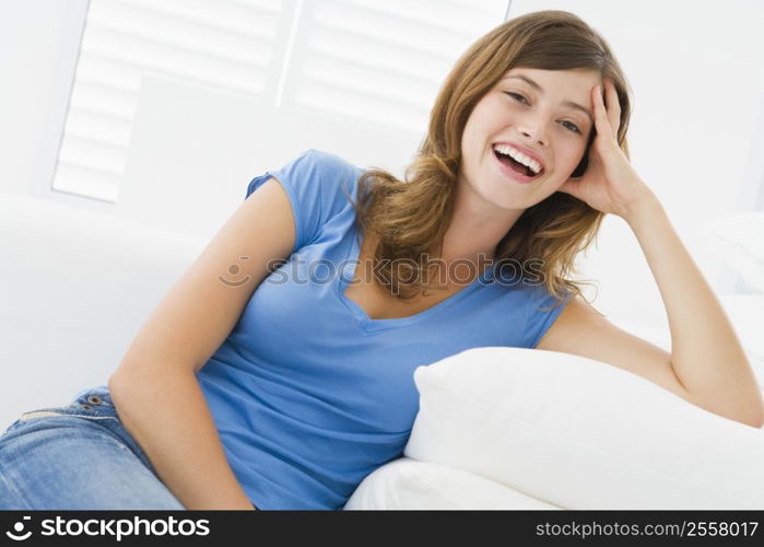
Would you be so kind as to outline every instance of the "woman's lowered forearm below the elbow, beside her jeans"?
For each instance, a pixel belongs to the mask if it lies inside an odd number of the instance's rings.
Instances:
[[[186,509],[255,509],[192,371],[166,363],[122,369],[109,379],[109,391],[125,428]]]

